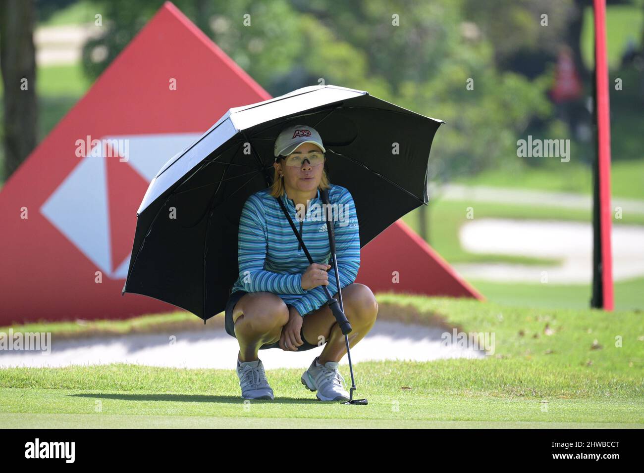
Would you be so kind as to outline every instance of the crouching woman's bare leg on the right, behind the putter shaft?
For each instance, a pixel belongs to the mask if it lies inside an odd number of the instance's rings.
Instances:
[[[338,299],[337,293],[333,297]],[[346,319],[351,322],[353,329],[348,335],[349,346],[352,348],[374,326],[378,315],[378,303],[368,286],[359,283],[349,284],[343,288],[342,302],[345,306]],[[319,345],[327,342],[317,359],[319,364],[339,361],[346,354],[345,336],[327,304],[304,317],[302,334],[307,342],[312,344]]]

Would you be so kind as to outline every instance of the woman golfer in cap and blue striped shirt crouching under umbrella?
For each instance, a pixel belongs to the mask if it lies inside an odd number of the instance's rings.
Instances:
[[[275,140],[272,187],[252,194],[240,216],[239,279],[225,309],[226,331],[240,345],[237,375],[244,399],[274,399],[258,350],[303,351],[324,345],[301,382],[322,401],[348,400],[337,366],[346,353],[345,336],[328,308],[322,286],[338,299],[330,259],[327,224],[320,190],[328,189],[336,234],[337,266],[343,305],[353,331],[353,347],[372,328],[378,313],[374,294],[354,283],[360,266],[360,237],[350,192],[328,182],[326,150],[315,129],[288,127]],[[281,199],[313,261],[309,264]],[[317,212],[316,212],[317,210]]]

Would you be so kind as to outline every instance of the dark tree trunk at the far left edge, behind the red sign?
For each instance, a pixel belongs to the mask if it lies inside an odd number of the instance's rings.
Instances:
[[[5,86],[5,179],[37,144],[34,16],[33,0],[0,2],[0,68]]]

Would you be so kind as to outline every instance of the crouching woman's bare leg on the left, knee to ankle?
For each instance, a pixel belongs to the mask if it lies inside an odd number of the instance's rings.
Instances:
[[[232,322],[240,344],[240,362],[254,361],[263,344],[279,340],[282,327],[289,322],[289,308],[274,293],[249,292],[235,304]]]

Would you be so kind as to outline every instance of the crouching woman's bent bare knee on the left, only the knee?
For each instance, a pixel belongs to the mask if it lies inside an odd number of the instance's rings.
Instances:
[[[236,309],[242,315],[235,322],[255,333],[267,333],[276,327],[285,326],[289,321],[289,308],[278,295],[270,292],[251,292],[243,295]]]

